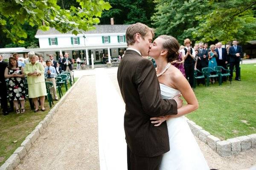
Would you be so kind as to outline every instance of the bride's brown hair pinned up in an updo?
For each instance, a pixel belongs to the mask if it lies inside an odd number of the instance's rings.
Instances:
[[[180,44],[175,37],[169,35],[160,35],[163,41],[163,48],[168,51],[167,62],[172,62],[179,57]]]

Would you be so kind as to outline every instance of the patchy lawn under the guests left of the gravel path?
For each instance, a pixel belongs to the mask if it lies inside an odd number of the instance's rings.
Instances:
[[[75,81],[77,79],[75,78]],[[69,88],[70,85],[68,84]],[[63,86],[61,89],[64,95],[66,93],[65,87]],[[53,102],[56,103],[58,101]],[[25,113],[16,114],[12,112],[8,116],[0,115],[0,166],[47,115],[50,110],[47,100],[45,100],[44,106],[46,111],[34,113],[34,111],[30,110],[29,101],[26,100]]]

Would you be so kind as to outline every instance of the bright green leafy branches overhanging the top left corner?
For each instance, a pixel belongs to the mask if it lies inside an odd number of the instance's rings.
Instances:
[[[15,43],[24,43],[22,38],[27,37],[23,28],[25,23],[44,31],[52,27],[62,33],[78,34],[93,29],[93,25],[99,23],[102,11],[111,8],[103,0],[76,2],[79,7],[71,6],[67,10],[61,9],[57,0],[0,0],[1,30]],[[8,28],[7,23],[12,27]]]

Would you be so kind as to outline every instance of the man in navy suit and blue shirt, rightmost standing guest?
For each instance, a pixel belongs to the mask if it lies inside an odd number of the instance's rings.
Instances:
[[[240,75],[240,60],[242,56],[242,47],[237,45],[237,40],[233,40],[233,46],[229,48],[229,56],[230,56],[230,80],[233,77],[233,68],[236,66],[236,78],[235,80],[241,81]]]

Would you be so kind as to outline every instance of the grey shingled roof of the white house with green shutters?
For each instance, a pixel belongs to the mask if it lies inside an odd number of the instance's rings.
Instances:
[[[131,25],[96,25],[94,30],[82,31],[82,34],[106,34],[106,33],[123,33]],[[53,34],[71,34],[71,32],[61,33],[55,28],[50,28],[49,31],[38,29],[36,35],[53,35]]]

